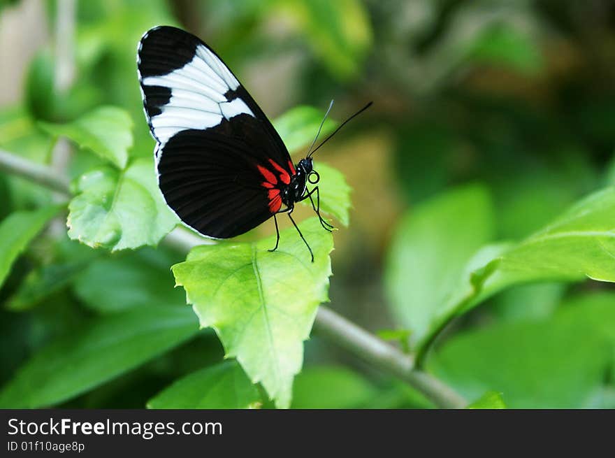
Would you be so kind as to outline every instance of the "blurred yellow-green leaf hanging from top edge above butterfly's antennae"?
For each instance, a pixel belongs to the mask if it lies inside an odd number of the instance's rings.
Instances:
[[[365,6],[359,0],[275,1],[310,43],[334,76],[348,79],[359,72],[372,42]]]

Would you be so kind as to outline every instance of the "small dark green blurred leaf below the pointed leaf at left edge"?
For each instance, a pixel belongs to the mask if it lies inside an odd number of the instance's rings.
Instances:
[[[51,294],[66,288],[83,268],[82,262],[66,262],[34,269],[7,299],[6,308],[17,311],[37,306]]]

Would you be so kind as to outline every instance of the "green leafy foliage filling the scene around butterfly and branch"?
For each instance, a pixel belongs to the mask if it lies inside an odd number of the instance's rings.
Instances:
[[[436,406],[312,334],[331,301],[470,408],[615,408],[611,2],[78,1],[66,89],[41,3],[0,150],[66,142],[70,195],[0,170],[0,407]],[[298,209],[314,264],[288,224],[275,253],[273,222],[167,236],[135,63],[157,24],[212,45],[297,159],[330,99],[327,132],[375,102],[317,153],[340,230]]]

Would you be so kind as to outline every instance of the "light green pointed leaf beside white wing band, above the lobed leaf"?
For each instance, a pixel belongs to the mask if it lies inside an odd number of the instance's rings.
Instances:
[[[122,108],[102,106],[73,122],[39,122],[39,125],[53,136],[70,138],[80,148],[94,151],[120,169],[126,166],[128,150],[133,144],[133,122]]]

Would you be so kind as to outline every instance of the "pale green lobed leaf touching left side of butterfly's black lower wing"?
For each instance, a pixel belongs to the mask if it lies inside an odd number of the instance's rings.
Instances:
[[[178,223],[164,203],[150,159],[136,159],[125,171],[89,171],[76,192],[68,204],[68,236],[92,248],[157,245]]]

